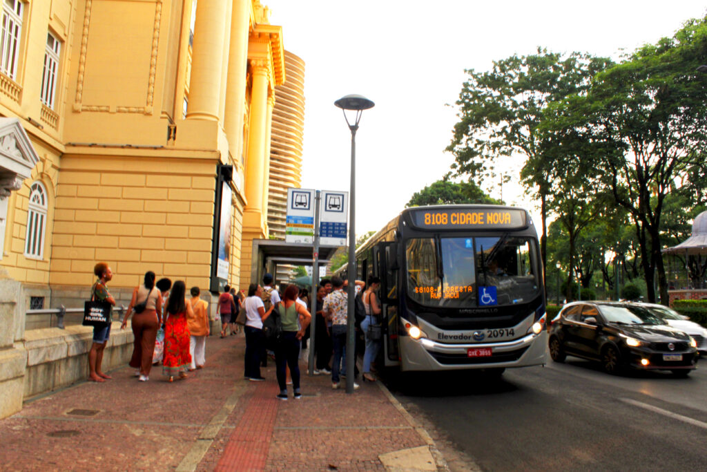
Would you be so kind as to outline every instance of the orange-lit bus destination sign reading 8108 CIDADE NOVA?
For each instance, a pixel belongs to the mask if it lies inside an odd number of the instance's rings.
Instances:
[[[416,209],[412,222],[421,229],[519,229],[527,226],[517,208]]]

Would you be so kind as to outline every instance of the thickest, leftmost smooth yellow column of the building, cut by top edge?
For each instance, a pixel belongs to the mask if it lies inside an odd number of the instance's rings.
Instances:
[[[197,2],[187,119],[218,121],[227,12],[226,1]]]

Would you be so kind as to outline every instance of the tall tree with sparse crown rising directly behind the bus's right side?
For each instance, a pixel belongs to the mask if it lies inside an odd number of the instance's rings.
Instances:
[[[586,90],[592,76],[608,64],[609,59],[576,52],[562,57],[538,48],[537,54],[493,62],[488,72],[466,71],[469,79],[457,100],[460,121],[447,148],[455,156],[452,170],[472,175],[481,184],[496,176],[496,163],[503,156],[527,158],[521,175],[540,199],[543,265],[547,265],[547,195],[552,185],[544,137],[537,127],[548,103]]]

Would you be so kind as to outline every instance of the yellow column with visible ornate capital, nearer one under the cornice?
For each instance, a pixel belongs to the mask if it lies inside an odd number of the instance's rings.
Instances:
[[[263,192],[265,189],[265,156],[267,137],[268,69],[264,60],[251,60],[253,84],[250,97],[250,129],[248,132],[248,156],[245,163],[245,221],[249,229],[264,229]],[[245,229],[245,228],[244,228]],[[264,234],[263,234],[264,236]]]

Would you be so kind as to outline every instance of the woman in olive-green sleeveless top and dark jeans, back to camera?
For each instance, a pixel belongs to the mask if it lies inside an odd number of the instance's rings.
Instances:
[[[287,367],[290,367],[294,398],[302,398],[298,357],[300,355],[300,343],[309,326],[312,315],[307,311],[306,306],[297,303],[298,294],[299,289],[296,285],[289,285],[285,289],[281,303],[277,306],[282,323],[281,338],[275,346],[277,383],[280,386],[280,393],[277,394],[277,398],[280,400],[287,400]]]

